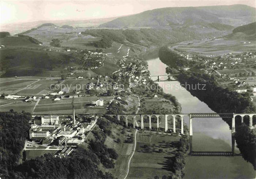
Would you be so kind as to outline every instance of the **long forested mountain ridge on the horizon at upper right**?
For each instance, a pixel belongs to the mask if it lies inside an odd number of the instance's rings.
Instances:
[[[256,9],[246,5],[170,7],[117,18],[100,27],[169,27],[185,24],[227,24],[239,26],[254,22]]]

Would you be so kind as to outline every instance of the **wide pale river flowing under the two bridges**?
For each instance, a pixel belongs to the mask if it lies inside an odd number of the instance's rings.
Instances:
[[[167,67],[159,58],[147,60],[152,76],[166,75]],[[172,94],[182,105],[182,113],[213,112],[206,103],[192,96],[178,81],[158,82],[165,93]],[[184,119],[188,124],[188,118]],[[193,119],[194,151],[232,151],[231,130],[221,118]],[[235,153],[240,151],[236,148]],[[255,179],[253,166],[241,156],[188,156],[184,179]]]

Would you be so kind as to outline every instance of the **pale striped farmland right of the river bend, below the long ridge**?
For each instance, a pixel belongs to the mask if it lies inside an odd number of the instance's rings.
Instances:
[[[218,56],[228,53],[255,51],[255,47],[256,41],[250,41],[250,44],[242,44],[239,40],[225,40],[219,38],[183,42],[171,48],[178,51]]]

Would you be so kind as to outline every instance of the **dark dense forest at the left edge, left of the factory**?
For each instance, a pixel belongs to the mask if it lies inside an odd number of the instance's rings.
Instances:
[[[3,177],[19,164],[28,137],[29,113],[0,112],[0,173]]]

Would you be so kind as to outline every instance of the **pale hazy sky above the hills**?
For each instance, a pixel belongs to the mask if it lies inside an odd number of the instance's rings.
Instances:
[[[245,4],[256,0],[0,0],[0,23],[86,20],[135,14],[163,7]]]

